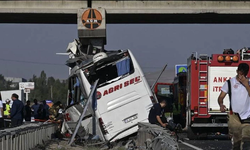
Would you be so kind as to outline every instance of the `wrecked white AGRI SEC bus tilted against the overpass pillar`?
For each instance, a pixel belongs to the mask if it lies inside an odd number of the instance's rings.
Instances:
[[[84,61],[72,58],[76,61],[70,69],[69,106],[62,133],[74,130],[84,107],[89,109],[81,122],[81,136],[96,134],[112,142],[136,133],[138,122],[148,122],[155,100],[135,57],[130,50],[104,51],[87,57]],[[91,111],[86,100],[97,79],[97,102]]]

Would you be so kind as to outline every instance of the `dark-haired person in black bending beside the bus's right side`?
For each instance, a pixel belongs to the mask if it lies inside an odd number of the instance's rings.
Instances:
[[[167,127],[166,119],[164,119],[164,107],[166,107],[166,101],[162,100],[160,103],[156,103],[149,111],[148,121],[151,124],[158,124],[164,128]]]

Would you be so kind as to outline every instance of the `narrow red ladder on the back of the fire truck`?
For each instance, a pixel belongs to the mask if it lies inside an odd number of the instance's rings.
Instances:
[[[199,71],[199,92],[198,92],[198,114],[200,116],[208,115],[208,102],[207,102],[207,94],[205,95],[205,91],[207,91],[207,82],[208,82],[208,63],[209,57],[207,54],[200,54],[200,60],[198,61],[198,71]],[[203,95],[201,93],[204,93]],[[201,109],[207,109],[207,111],[200,111]]]

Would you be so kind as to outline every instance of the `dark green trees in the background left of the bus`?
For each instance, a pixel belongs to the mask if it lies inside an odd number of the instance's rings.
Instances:
[[[68,81],[59,80],[54,77],[47,77],[44,71],[41,71],[40,76],[33,75],[29,82],[35,83],[35,89],[30,90],[29,100],[33,102],[34,99],[38,101],[52,100],[54,103],[61,101],[66,104]],[[0,74],[0,91],[3,90],[18,90],[19,87],[11,87],[11,81],[6,81],[4,76]]]

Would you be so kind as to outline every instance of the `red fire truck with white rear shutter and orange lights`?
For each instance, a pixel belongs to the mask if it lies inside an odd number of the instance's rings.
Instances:
[[[186,127],[189,138],[197,138],[201,133],[227,133],[227,112],[220,112],[217,99],[224,82],[236,75],[239,63],[250,65],[249,56],[250,49],[243,48],[237,54],[210,57],[194,53],[188,58]],[[228,96],[224,104],[229,108]]]

